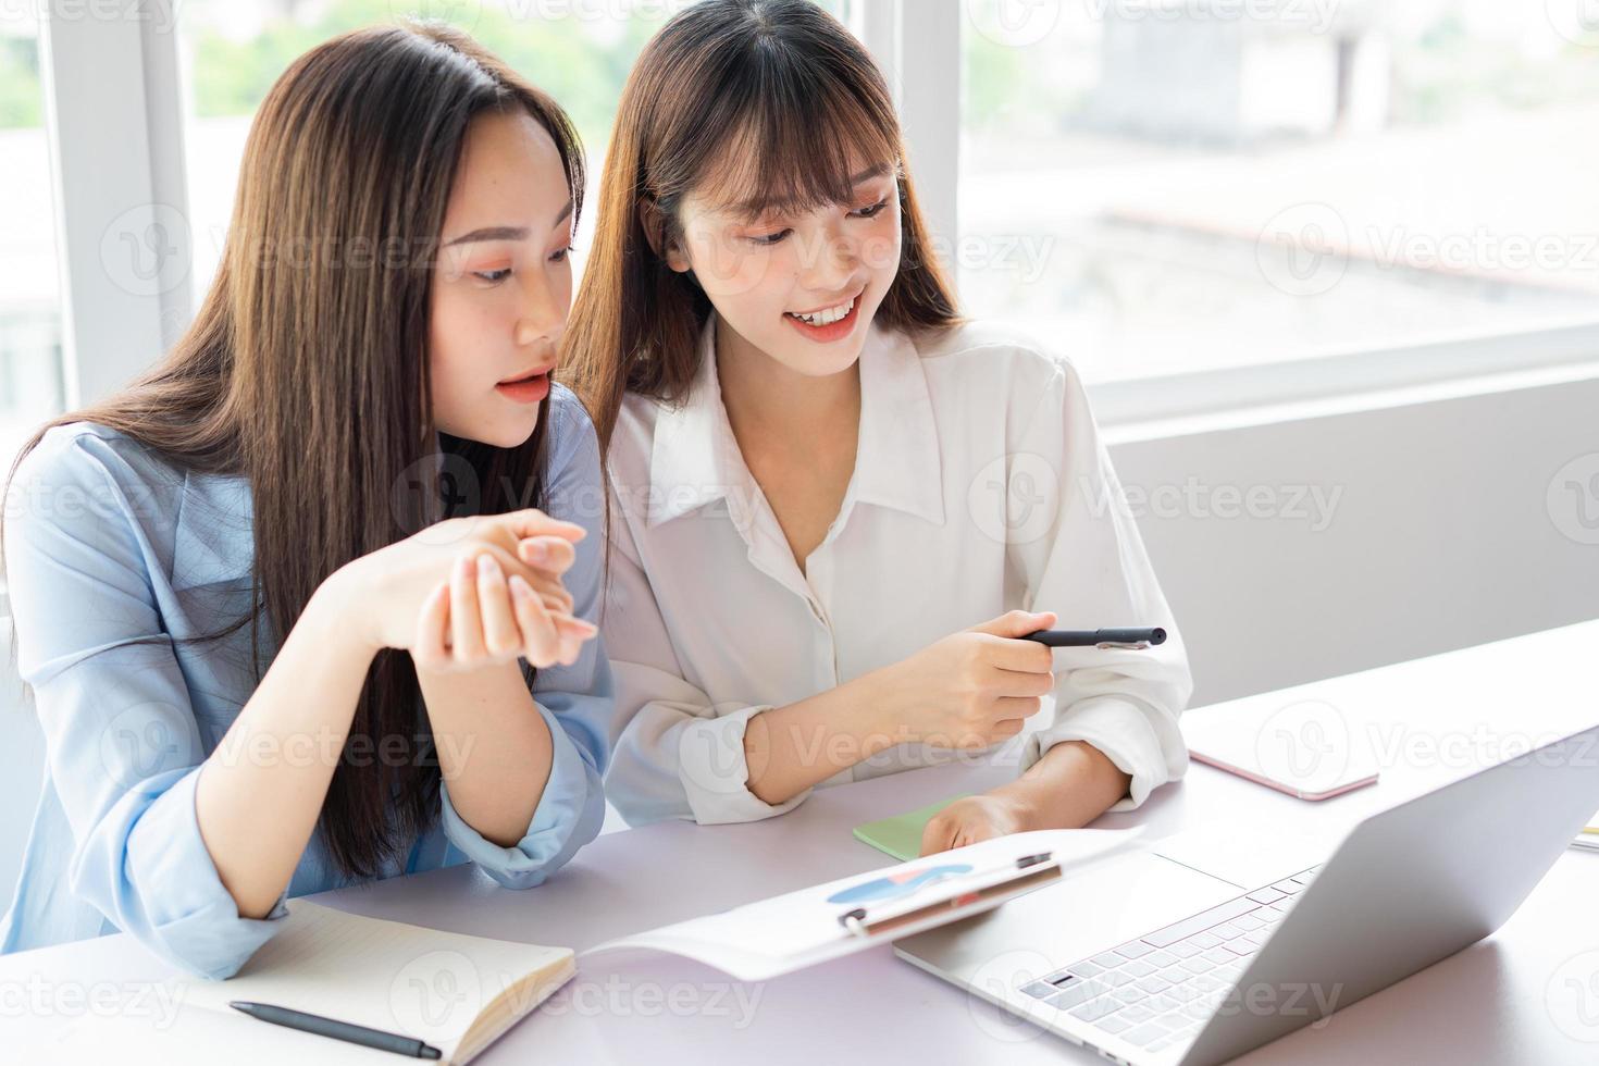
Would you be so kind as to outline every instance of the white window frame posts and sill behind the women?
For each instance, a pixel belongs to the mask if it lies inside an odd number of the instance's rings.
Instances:
[[[185,104],[174,0],[50,0],[46,6],[40,66],[62,273],[62,377],[67,404],[75,406],[142,371],[192,315],[193,235],[171,264],[184,283],[154,296],[125,291],[101,262],[102,245],[117,225],[126,225],[130,209],[165,205],[189,217]],[[115,10],[115,18],[90,14],[106,10]],[[915,18],[908,18],[911,10]],[[929,224],[953,241],[959,235],[967,0],[843,0],[843,13],[894,89]],[[1492,387],[1497,376],[1551,368],[1599,376],[1599,321],[1091,382],[1089,392],[1100,422],[1137,427],[1308,400],[1356,403],[1417,385]]]

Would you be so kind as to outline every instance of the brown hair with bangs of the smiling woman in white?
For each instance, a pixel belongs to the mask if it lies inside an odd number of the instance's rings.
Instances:
[[[812,0],[700,0],[673,16],[622,91],[566,329],[563,377],[588,406],[601,447],[625,393],[676,401],[699,369],[710,299],[664,257],[681,238],[689,193],[752,217],[814,209],[849,201],[852,165],[889,163],[900,262],[875,321],[913,334],[956,324],[903,158],[883,74]]]

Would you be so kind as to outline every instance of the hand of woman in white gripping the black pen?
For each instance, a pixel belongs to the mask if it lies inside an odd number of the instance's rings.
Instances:
[[[971,751],[1020,734],[1055,674],[1051,649],[1019,638],[1054,623],[1011,611],[889,666],[899,740]]]

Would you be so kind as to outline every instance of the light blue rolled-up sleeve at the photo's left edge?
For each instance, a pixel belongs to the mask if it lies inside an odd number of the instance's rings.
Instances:
[[[225,978],[288,911],[280,898],[240,917],[200,836],[205,753],[133,519],[152,502],[114,462],[98,438],[54,430],[8,494],[18,662],[74,836],[64,887],[169,962]]]

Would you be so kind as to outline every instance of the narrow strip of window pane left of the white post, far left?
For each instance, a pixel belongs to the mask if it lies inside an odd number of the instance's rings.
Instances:
[[[62,409],[61,296],[34,5],[0,22],[0,476]]]

